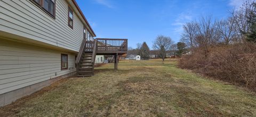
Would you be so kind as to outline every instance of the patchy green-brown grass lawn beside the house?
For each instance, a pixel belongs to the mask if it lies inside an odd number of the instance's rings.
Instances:
[[[0,108],[0,116],[256,116],[256,94],[176,67],[122,60]]]

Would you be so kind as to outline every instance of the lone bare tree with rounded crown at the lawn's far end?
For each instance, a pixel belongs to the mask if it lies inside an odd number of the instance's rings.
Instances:
[[[165,37],[163,35],[158,35],[153,42],[153,49],[159,51],[163,62],[166,57],[166,51],[171,49],[172,44],[174,44],[174,41],[172,41],[170,37]]]

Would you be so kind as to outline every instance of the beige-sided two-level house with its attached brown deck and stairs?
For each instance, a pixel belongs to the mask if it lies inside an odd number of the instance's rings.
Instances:
[[[127,39],[93,39],[75,0],[1,0],[0,11],[0,106],[61,78],[93,75],[96,55],[127,52]]]

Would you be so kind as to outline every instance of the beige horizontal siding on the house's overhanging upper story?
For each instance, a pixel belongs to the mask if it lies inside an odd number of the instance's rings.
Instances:
[[[68,26],[68,4],[56,1],[55,19],[29,0],[0,1],[0,30],[54,46],[79,51],[83,23],[74,14],[74,26]]]

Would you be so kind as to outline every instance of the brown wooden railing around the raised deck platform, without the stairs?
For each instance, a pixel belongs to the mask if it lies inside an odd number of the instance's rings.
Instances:
[[[127,39],[97,38],[97,53],[126,53]]]

